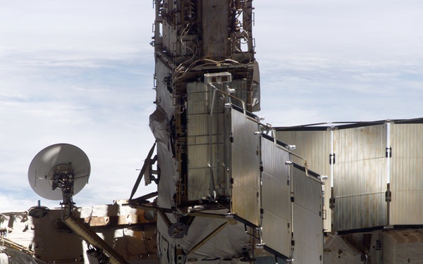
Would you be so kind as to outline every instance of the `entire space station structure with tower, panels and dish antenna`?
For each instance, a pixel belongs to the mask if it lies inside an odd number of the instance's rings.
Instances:
[[[155,142],[128,199],[78,207],[89,157],[47,146],[27,177],[59,208],[0,213],[1,264],[422,263],[422,118],[271,125],[252,0],[154,11]]]

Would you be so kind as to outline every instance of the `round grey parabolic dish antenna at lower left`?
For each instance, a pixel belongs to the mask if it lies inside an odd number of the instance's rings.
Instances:
[[[28,169],[28,181],[39,196],[62,200],[63,182],[71,184],[72,194],[78,194],[90,177],[91,165],[78,146],[54,144],[39,151]]]

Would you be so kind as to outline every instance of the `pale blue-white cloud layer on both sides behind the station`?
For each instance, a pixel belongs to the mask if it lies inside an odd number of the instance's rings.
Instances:
[[[423,116],[422,1],[253,5],[266,122]],[[1,1],[0,212],[36,205],[27,168],[59,142],[92,164],[77,206],[128,198],[154,142],[153,20],[151,1]]]

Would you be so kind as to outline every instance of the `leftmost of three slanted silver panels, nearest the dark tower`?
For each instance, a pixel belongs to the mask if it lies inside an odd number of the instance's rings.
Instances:
[[[231,111],[231,122],[232,213],[259,226],[259,136],[254,134],[259,127],[235,110]]]

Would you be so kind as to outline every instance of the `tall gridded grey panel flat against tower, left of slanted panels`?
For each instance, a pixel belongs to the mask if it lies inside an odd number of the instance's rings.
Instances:
[[[226,174],[222,168],[223,151],[223,103],[216,92],[213,115],[210,119],[209,108],[212,93],[210,87],[201,82],[187,84],[187,144],[188,144],[188,199],[198,200],[210,194],[210,130],[212,130],[212,170],[214,189],[217,194],[225,194]],[[212,120],[212,127],[209,127]]]

